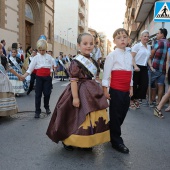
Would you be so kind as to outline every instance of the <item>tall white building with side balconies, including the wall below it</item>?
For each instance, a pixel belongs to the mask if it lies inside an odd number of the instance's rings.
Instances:
[[[55,55],[77,53],[77,37],[88,30],[88,0],[55,0]]]

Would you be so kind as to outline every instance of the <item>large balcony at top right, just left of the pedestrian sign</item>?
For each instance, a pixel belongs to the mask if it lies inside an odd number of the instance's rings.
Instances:
[[[139,0],[136,6],[135,22],[144,22],[156,0]]]

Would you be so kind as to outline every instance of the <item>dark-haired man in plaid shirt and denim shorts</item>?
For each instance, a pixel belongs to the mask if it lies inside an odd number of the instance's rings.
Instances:
[[[153,49],[151,51],[151,56],[149,58],[149,67],[151,70],[151,92],[155,94],[155,84],[158,85],[158,100],[157,104],[161,101],[161,98],[164,93],[164,82],[165,82],[165,74],[166,74],[166,59],[167,59],[167,51],[170,47],[169,41],[166,39],[167,30],[165,28],[160,28],[156,38]],[[151,62],[152,60],[152,62]],[[151,93],[151,94],[152,94]],[[149,99],[151,101],[151,99]],[[153,99],[151,104],[153,103]]]

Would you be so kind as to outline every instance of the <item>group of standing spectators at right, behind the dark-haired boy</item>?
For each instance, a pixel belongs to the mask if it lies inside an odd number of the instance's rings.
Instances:
[[[165,97],[165,86],[170,81],[170,40],[166,38],[167,30],[160,28],[152,47],[148,45],[149,31],[141,33],[141,41],[131,48],[134,58],[133,96],[130,109],[139,109],[143,99],[147,99],[150,107],[154,107],[154,115],[163,118],[161,108],[167,102],[168,92]],[[167,78],[167,81],[166,81]]]

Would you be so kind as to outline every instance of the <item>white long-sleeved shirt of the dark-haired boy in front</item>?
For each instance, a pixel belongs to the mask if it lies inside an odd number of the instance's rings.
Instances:
[[[132,71],[133,75],[133,62],[131,53],[119,48],[116,48],[114,51],[109,53],[104,64],[102,86],[109,87],[112,70]],[[132,78],[130,86],[133,86]]]

